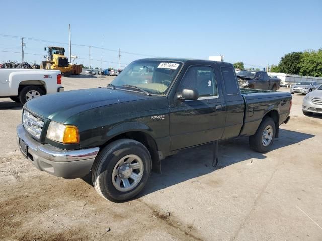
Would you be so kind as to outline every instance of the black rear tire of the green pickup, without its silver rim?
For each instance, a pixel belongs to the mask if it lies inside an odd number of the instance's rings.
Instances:
[[[269,126],[271,126],[273,129],[273,133],[271,134],[272,139],[268,143],[268,145],[265,146],[263,144],[263,133],[264,133],[264,130]],[[250,143],[251,148],[257,152],[269,151],[270,147],[272,146],[272,144],[274,142],[275,133],[276,133],[276,127],[275,127],[275,122],[273,121],[273,119],[270,117],[264,117],[261,124],[257,128],[256,133],[253,136],[249,137],[249,143]]]

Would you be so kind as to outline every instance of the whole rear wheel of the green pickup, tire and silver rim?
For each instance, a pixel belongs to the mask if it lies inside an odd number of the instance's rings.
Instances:
[[[256,133],[249,137],[250,146],[257,152],[267,152],[274,142],[275,122],[270,117],[264,117]]]

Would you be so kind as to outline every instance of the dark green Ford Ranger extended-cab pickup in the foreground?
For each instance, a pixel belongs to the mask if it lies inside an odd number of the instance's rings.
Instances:
[[[105,88],[28,101],[17,141],[39,170],[70,179],[91,172],[102,197],[124,201],[182,149],[249,136],[254,150],[269,151],[291,102],[290,93],[239,89],[229,63],[141,59]]]

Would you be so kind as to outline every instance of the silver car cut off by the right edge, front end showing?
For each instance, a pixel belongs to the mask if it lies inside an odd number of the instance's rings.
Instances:
[[[312,115],[313,113],[322,114],[322,85],[305,96],[302,111],[304,115]]]

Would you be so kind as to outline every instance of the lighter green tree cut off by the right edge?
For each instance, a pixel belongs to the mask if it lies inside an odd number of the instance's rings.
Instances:
[[[322,77],[322,49],[305,51],[298,67],[300,75]]]

